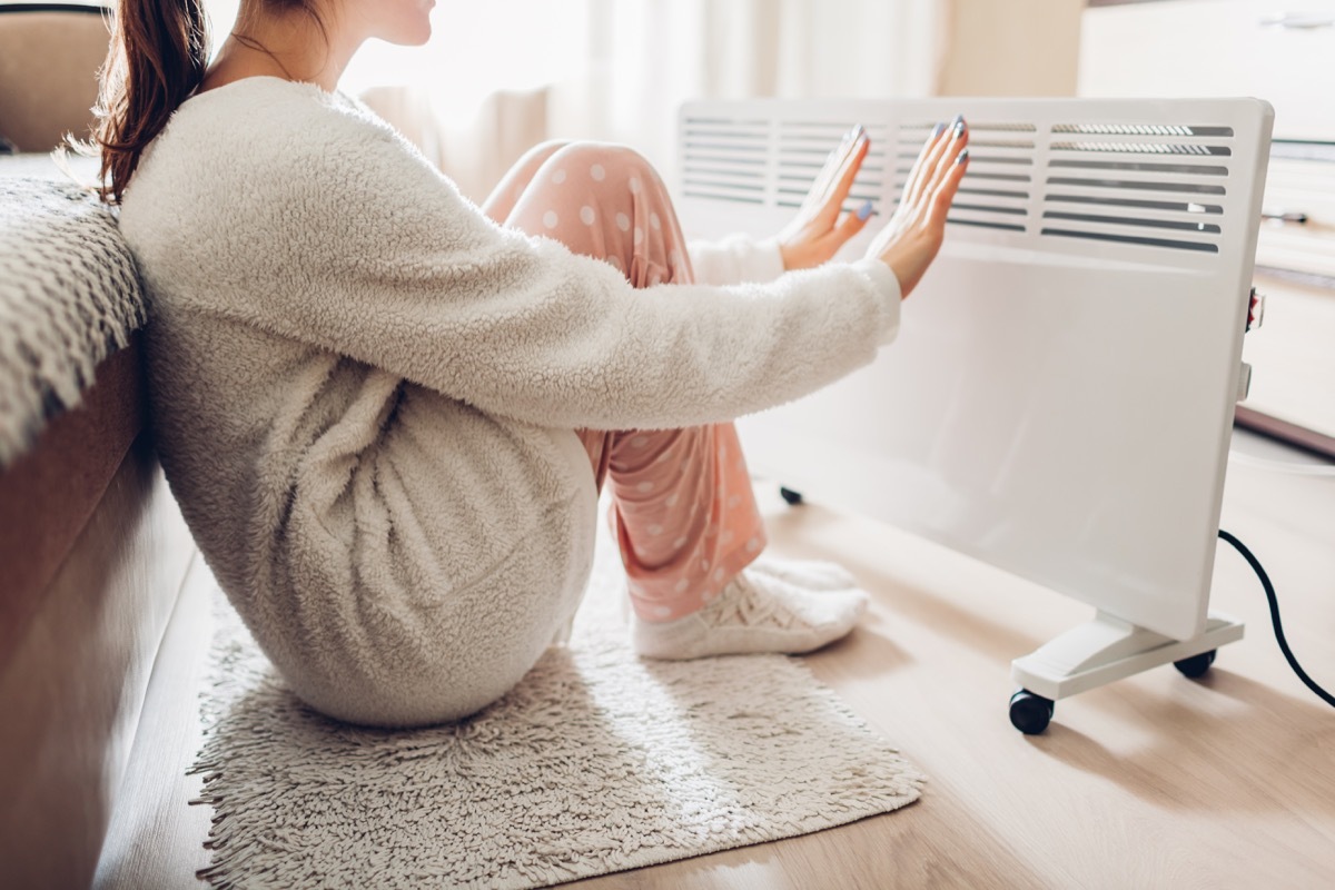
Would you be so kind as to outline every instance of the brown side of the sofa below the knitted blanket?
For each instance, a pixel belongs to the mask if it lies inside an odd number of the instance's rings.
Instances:
[[[132,344],[0,475],[0,861],[88,886],[195,546]]]

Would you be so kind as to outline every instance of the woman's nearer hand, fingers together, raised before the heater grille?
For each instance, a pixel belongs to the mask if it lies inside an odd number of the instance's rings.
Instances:
[[[894,216],[866,248],[868,258],[890,267],[905,298],[941,250],[945,215],[969,165],[968,143],[969,129],[963,117],[937,124],[909,171]]]

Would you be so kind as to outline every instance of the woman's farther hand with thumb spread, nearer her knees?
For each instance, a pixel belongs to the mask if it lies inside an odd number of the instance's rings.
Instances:
[[[797,217],[778,235],[778,250],[784,256],[785,270],[812,268],[825,263],[866,226],[872,217],[872,201],[864,203],[857,212],[846,213],[842,219],[840,213],[869,147],[866,131],[857,125],[844,136],[838,148],[830,152],[825,167],[812,183],[812,191],[797,211]]]

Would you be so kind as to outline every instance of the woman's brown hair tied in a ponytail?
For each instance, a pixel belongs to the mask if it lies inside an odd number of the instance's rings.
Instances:
[[[243,0],[243,15],[252,3],[299,9],[324,28],[318,0]],[[119,0],[93,109],[104,201],[120,203],[144,148],[203,81],[208,56],[204,0]]]

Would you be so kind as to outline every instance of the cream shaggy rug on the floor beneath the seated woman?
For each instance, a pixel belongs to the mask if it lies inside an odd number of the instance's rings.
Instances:
[[[207,734],[215,887],[541,887],[806,834],[922,777],[796,659],[629,648],[599,542],[567,648],[455,726],[382,731],[300,705],[219,594]]]

